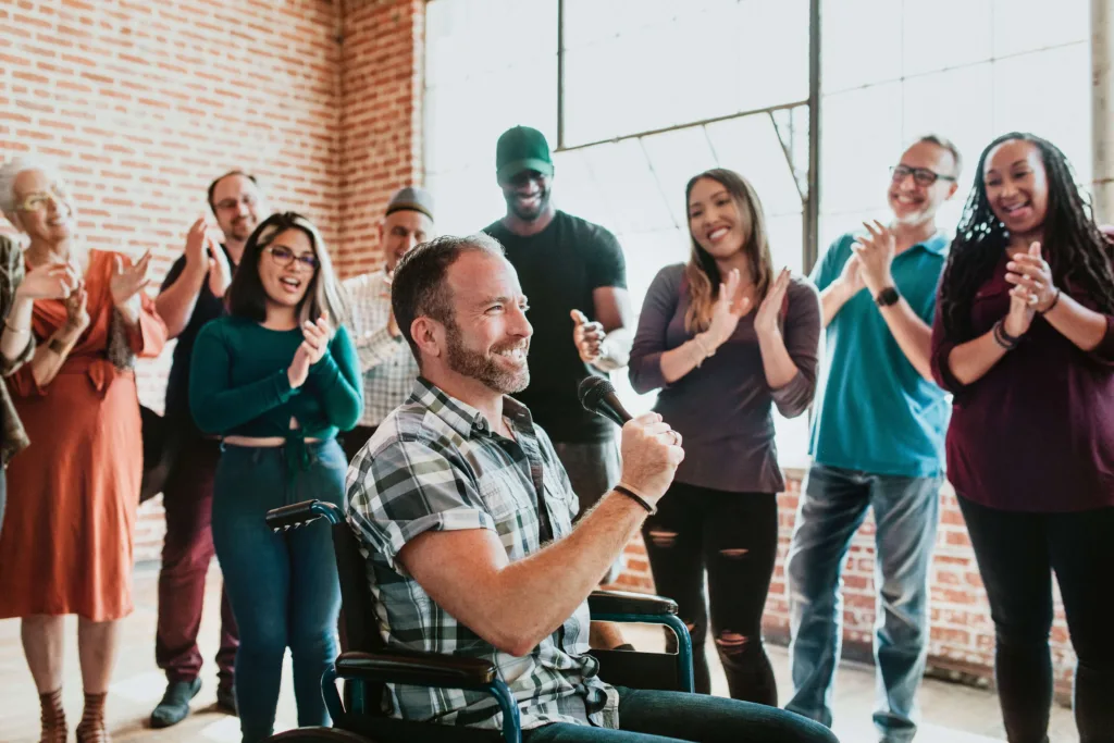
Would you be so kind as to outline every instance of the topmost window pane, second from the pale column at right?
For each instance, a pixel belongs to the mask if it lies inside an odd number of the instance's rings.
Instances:
[[[906,0],[905,77],[990,59],[990,0]]]

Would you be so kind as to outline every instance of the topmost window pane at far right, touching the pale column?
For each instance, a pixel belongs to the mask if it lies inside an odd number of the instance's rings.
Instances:
[[[994,56],[1008,57],[1086,41],[1091,30],[1088,0],[995,0]]]

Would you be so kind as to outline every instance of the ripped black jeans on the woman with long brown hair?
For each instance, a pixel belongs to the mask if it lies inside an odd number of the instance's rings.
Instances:
[[[778,557],[778,497],[674,482],[657,508],[642,536],[657,594],[677,603],[692,633],[696,691],[712,691],[704,654],[711,598],[712,632],[732,698],[778,706],[762,644],[762,609]],[[666,638],[674,651],[673,633]]]

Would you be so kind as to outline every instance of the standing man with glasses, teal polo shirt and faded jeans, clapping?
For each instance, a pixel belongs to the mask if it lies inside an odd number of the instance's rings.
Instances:
[[[961,159],[929,135],[890,169],[888,226],[837,239],[817,263],[827,360],[814,407],[812,467],[786,573],[793,698],[786,710],[831,725],[842,639],[840,574],[874,511],[878,600],[874,726],[886,743],[917,732],[928,654],[928,570],[936,541],[949,404],[931,381],[936,287],[948,238],[936,225]],[[866,291],[863,291],[866,290]]]

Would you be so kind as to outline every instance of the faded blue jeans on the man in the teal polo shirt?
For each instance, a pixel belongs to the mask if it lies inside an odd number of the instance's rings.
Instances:
[[[928,657],[928,573],[941,478],[909,478],[813,465],[789,548],[793,698],[785,705],[832,722],[832,682],[842,645],[840,571],[851,538],[874,509],[874,725],[887,742],[917,732],[916,694]]]

